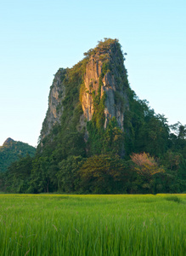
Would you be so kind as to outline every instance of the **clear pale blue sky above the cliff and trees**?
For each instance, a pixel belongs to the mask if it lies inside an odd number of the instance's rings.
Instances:
[[[103,38],[118,38],[132,90],[155,113],[186,124],[185,0],[3,0],[0,9],[0,145],[37,146],[59,67]]]

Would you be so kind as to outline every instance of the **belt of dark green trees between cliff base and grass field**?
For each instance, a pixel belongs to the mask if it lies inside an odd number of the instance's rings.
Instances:
[[[0,189],[77,194],[186,191],[186,125],[168,125],[164,116],[135,95],[124,132],[115,118],[104,131],[93,130],[98,129],[93,122],[87,125],[92,129],[87,143],[74,125],[64,130],[54,127],[36,156],[27,154],[1,173]]]

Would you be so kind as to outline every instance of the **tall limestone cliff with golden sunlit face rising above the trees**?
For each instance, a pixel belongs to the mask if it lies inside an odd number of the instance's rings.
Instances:
[[[90,133],[87,123],[92,121],[98,129],[102,125],[105,130],[113,118],[124,130],[129,85],[121,45],[116,39],[106,38],[84,55],[74,67],[60,68],[55,74],[41,141],[48,135],[53,138],[61,133],[60,127],[65,131],[74,126],[87,142]]]

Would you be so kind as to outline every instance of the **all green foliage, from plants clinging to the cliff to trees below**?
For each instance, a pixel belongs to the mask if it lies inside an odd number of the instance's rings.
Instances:
[[[114,48],[116,59],[105,51]],[[93,91],[93,118],[79,128],[82,116],[83,76],[90,55],[103,59],[99,90]],[[0,177],[7,192],[40,193],[179,193],[186,191],[186,125],[168,125],[130,89],[117,40],[105,39],[72,68],[61,73],[65,98],[60,124],[44,137],[31,159],[26,156]],[[121,63],[122,62],[122,63]],[[115,101],[124,113],[123,127],[116,117],[104,128],[101,87],[106,73],[116,76]],[[45,128],[43,122],[43,129]]]

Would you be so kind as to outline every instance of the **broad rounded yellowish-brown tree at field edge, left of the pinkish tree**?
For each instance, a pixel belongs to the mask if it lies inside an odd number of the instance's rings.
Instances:
[[[85,161],[78,173],[84,193],[110,194],[127,191],[130,171],[118,155],[93,155]]]

